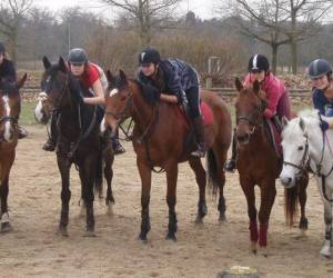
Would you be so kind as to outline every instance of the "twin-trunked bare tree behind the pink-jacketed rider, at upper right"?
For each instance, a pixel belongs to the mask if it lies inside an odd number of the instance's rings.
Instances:
[[[297,43],[315,34],[320,22],[333,7],[332,0],[230,0],[239,26],[246,34],[272,48],[276,68],[278,48],[289,43],[292,70],[297,72]]]

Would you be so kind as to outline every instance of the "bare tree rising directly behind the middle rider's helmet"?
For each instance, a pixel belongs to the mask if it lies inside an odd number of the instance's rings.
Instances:
[[[152,28],[160,26],[171,17],[171,12],[182,0],[100,0],[115,7],[135,23],[142,46],[148,46],[152,38]]]

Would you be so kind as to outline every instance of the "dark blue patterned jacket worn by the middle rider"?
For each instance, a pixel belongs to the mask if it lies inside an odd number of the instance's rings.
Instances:
[[[162,93],[175,95],[181,103],[184,92],[192,87],[199,87],[196,71],[189,63],[179,59],[167,59],[159,63],[159,72],[155,81],[151,81],[141,71],[139,80],[144,83],[152,83]]]

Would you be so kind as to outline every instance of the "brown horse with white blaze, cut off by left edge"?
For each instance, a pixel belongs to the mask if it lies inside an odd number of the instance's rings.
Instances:
[[[0,79],[0,231],[11,231],[8,215],[9,175],[16,159],[18,145],[18,119],[21,107],[20,88],[27,73],[17,82]]]

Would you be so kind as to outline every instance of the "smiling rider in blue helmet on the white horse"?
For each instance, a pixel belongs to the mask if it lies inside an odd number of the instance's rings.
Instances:
[[[321,115],[333,117],[332,66],[325,59],[316,59],[309,64],[307,76],[312,82],[313,107]],[[333,127],[333,120],[321,122],[323,131],[331,127]]]

